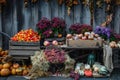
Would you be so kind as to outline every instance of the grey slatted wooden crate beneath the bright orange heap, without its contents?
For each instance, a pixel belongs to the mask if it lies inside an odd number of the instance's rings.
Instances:
[[[40,50],[40,42],[9,41],[9,55],[12,56],[32,56],[38,50]]]

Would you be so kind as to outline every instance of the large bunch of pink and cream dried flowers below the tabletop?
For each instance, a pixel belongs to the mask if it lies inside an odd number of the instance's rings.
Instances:
[[[65,76],[68,76],[70,71],[74,69],[75,64],[74,59],[70,58],[68,54],[65,54],[65,52],[62,49],[59,49],[56,46],[50,46],[47,47],[45,50],[36,51],[35,55],[31,57],[31,61],[32,69],[28,74],[28,78],[30,79],[53,75],[49,71],[49,68],[54,68],[56,66],[51,66],[51,63],[63,63],[65,65],[65,68],[62,69],[62,72]]]

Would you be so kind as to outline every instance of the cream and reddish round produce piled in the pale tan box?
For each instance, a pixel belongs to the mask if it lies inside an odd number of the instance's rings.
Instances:
[[[95,34],[94,32],[85,32],[84,34],[67,34],[66,36],[67,39],[69,40],[102,40],[102,38],[98,35]]]

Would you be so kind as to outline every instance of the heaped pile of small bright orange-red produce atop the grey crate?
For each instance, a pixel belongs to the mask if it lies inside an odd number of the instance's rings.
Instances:
[[[40,36],[37,32],[32,29],[21,30],[17,34],[15,34],[12,38],[12,41],[24,41],[24,42],[38,42],[40,40]]]

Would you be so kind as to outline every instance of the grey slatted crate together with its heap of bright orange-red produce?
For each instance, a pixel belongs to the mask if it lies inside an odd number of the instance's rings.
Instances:
[[[40,36],[32,29],[21,30],[9,41],[9,54],[16,57],[30,57],[40,50]]]

